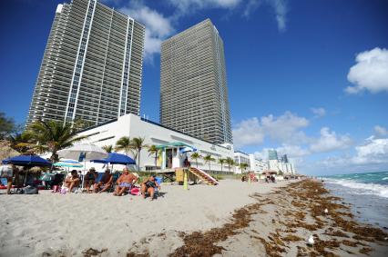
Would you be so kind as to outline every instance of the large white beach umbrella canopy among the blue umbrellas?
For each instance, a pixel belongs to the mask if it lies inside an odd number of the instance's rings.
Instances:
[[[94,144],[77,144],[70,148],[59,150],[57,153],[60,158],[78,160],[79,162],[107,157],[107,152]]]

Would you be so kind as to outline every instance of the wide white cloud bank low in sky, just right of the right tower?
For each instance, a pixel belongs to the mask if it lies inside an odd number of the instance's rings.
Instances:
[[[244,120],[233,129],[233,139],[237,147],[263,143],[264,137],[280,143],[305,143],[308,141],[301,128],[309,125],[309,121],[291,112],[279,117],[272,114]]]

